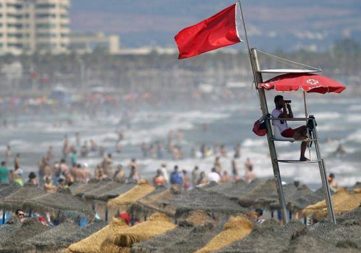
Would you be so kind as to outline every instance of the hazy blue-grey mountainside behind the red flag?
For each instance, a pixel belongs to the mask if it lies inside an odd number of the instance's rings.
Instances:
[[[179,30],[234,2],[73,0],[71,27],[119,34],[126,47],[175,46]],[[360,0],[248,0],[242,5],[250,41],[258,48],[326,50],[343,37],[361,41]]]

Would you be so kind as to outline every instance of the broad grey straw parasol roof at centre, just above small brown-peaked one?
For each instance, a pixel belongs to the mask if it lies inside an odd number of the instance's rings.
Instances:
[[[208,192],[198,187],[176,195],[169,202],[177,208],[175,212],[177,218],[189,215],[195,210],[212,213],[212,216],[237,215],[247,211],[236,202],[225,198],[223,194]]]

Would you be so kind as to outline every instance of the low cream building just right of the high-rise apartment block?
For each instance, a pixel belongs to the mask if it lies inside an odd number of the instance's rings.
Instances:
[[[117,54],[119,47],[118,35],[105,35],[104,33],[70,34],[69,49],[77,53],[91,53],[95,49],[103,49],[110,54]]]

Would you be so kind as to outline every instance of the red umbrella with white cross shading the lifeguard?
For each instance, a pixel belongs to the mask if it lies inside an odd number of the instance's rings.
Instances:
[[[346,86],[331,78],[310,73],[283,74],[260,83],[258,87],[277,91],[296,91],[301,88],[307,93],[322,94],[327,92],[341,93],[346,89]]]

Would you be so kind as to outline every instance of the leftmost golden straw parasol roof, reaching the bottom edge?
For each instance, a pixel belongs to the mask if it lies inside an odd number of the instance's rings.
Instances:
[[[71,244],[66,253],[101,253],[100,246],[106,237],[119,233],[129,226],[122,219],[113,219],[109,225],[87,238]]]

